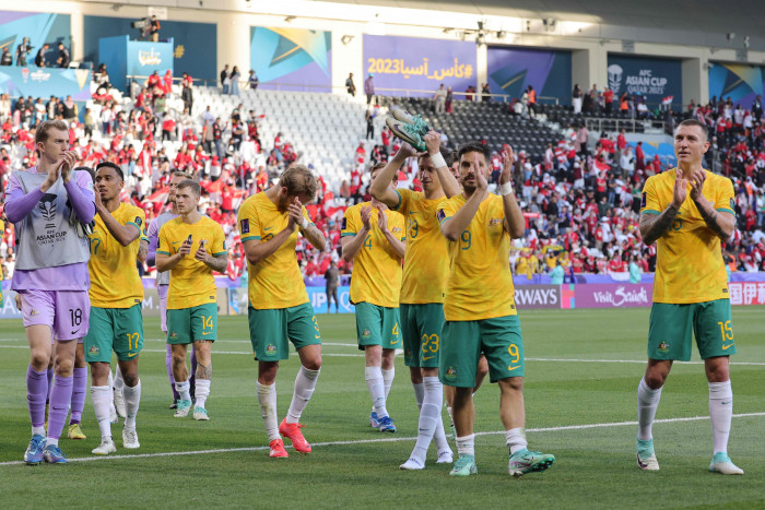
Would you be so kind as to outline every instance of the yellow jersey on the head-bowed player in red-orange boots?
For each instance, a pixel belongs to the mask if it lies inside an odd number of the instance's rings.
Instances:
[[[303,216],[310,221],[308,211],[303,207]],[[286,228],[290,216],[279,211],[266,193],[255,194],[239,207],[238,223],[242,242],[248,240],[270,241],[273,236]],[[295,245],[297,230],[292,233],[276,251],[257,265],[249,262],[249,303],[257,310],[290,308],[308,303],[308,293],[303,282],[303,273],[297,265]]]

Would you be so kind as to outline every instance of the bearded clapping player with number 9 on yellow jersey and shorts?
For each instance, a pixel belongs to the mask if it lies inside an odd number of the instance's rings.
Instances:
[[[510,237],[526,228],[513,191],[513,150],[504,152],[502,195],[487,191],[489,149],[468,143],[459,150],[462,193],[438,209],[440,230],[449,240],[450,274],[444,299],[444,335],[438,377],[455,388],[454,419],[459,459],[452,476],[478,473],[473,446],[473,387],[481,352],[492,382],[499,384],[499,417],[510,450],[514,476],[544,471],[555,458],[527,449],[523,405],[523,340],[513,298]]]

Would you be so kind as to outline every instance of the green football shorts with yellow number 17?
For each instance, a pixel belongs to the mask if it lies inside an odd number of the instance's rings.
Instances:
[[[91,307],[90,329],[82,341],[85,361],[110,363],[111,351],[117,359],[129,361],[143,348],[141,305],[130,308]]]

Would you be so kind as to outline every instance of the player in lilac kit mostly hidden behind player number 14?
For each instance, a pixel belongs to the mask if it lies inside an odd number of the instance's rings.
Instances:
[[[162,228],[162,226],[170,220],[178,217],[178,211],[175,206],[175,190],[178,188],[178,185],[186,179],[191,179],[191,175],[180,170],[173,173],[167,191],[167,202],[170,204],[170,210],[160,214],[149,224],[149,229],[146,230],[146,237],[149,238],[149,254],[146,257],[146,262],[149,265],[156,264],[156,247],[160,244],[160,228]],[[156,292],[160,295],[160,328],[165,335],[167,334],[167,287],[169,286],[169,272],[157,272]],[[173,403],[169,405],[169,408],[174,410],[178,405],[178,399],[180,399],[180,395],[175,389],[175,379],[173,378],[173,346],[170,344],[167,344],[167,351],[165,353],[165,368],[167,369],[167,377],[170,380],[170,390],[173,390]],[[197,356],[193,347],[191,347],[191,377],[189,378],[189,394],[192,399],[195,396],[196,371]]]

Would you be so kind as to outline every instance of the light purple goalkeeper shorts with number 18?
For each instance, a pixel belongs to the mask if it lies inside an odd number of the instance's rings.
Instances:
[[[87,334],[91,299],[87,290],[21,290],[24,328],[45,324],[55,340],[82,339]]]

